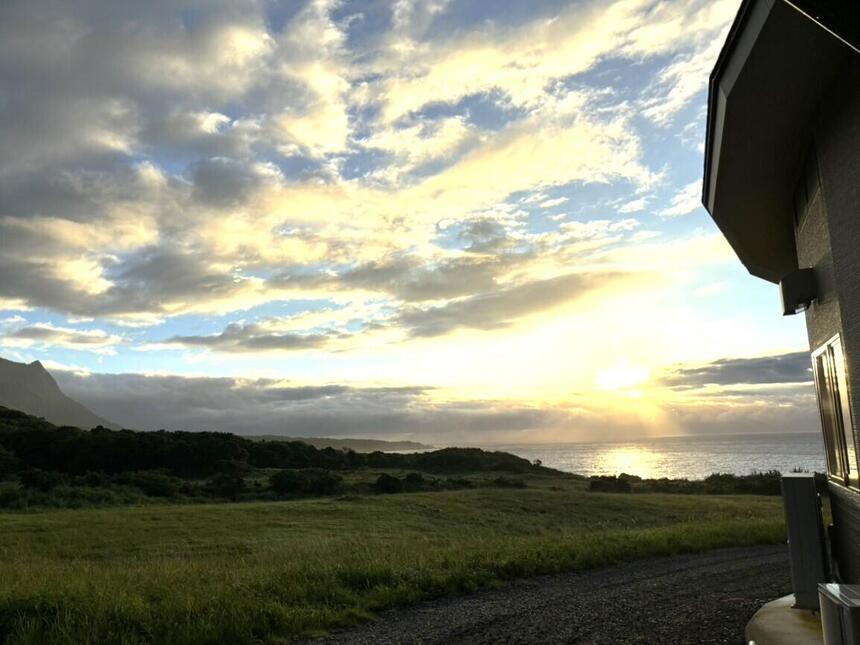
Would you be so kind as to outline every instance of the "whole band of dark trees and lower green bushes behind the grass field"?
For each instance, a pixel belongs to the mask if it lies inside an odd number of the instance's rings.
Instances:
[[[12,510],[518,487],[521,475],[564,476],[477,448],[359,454],[230,433],[56,427],[0,407],[0,508]]]

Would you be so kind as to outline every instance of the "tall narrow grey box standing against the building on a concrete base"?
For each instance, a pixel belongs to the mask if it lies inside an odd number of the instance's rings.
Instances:
[[[782,501],[791,555],[794,606],[817,610],[818,585],[829,580],[829,567],[821,497],[815,488],[815,475],[783,475]]]

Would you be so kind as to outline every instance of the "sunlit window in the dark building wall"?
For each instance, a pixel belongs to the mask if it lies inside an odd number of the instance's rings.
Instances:
[[[857,448],[839,336],[834,336],[817,349],[812,362],[827,452],[827,471],[833,479],[857,486]]]

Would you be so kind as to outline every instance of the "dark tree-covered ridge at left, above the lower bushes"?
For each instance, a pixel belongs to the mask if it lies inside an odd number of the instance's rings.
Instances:
[[[83,475],[160,470],[208,477],[247,468],[356,470],[392,468],[428,473],[525,473],[539,466],[504,452],[445,448],[424,453],[357,453],[301,441],[253,441],[227,432],[82,430],[0,407],[0,475],[29,469]]]

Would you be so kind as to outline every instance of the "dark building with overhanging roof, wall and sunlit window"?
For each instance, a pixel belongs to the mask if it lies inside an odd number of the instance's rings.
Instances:
[[[783,313],[805,312],[831,571],[860,583],[860,0],[741,3],[711,74],[702,201]]]

